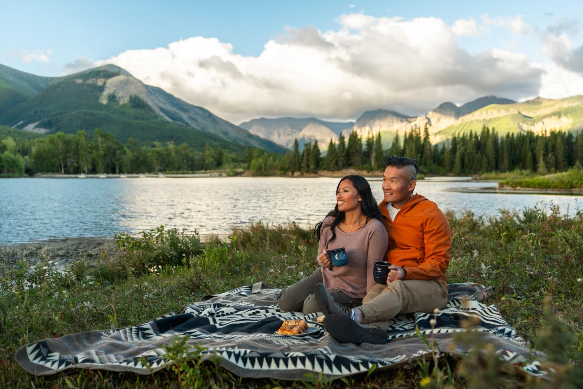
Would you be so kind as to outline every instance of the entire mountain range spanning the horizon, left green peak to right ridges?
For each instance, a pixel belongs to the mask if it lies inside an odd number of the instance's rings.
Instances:
[[[138,139],[187,142],[195,149],[206,143],[232,150],[246,146],[284,153],[294,139],[300,146],[317,140],[325,149],[332,139],[356,131],[366,138],[381,133],[385,148],[396,134],[429,126],[433,143],[456,134],[480,131],[483,125],[499,135],[583,128],[583,96],[535,99],[517,103],[485,96],[462,106],[445,102],[427,114],[409,116],[391,110],[366,111],[356,121],[318,118],[257,118],[234,125],[203,107],[188,104],[159,87],[145,85],[115,65],[104,65],[61,77],[42,77],[0,65],[0,125],[30,132],[89,135],[101,128],[122,141]]]

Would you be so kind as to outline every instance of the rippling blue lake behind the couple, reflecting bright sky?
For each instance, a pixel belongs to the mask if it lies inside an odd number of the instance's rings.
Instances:
[[[494,187],[493,182],[417,183],[419,194],[443,211],[495,215],[539,202],[573,213],[579,196],[463,193],[456,188]],[[4,178],[0,180],[0,244],[54,237],[137,233],[155,226],[226,234],[230,226],[297,222],[313,225],[335,205],[339,178]],[[382,199],[381,181],[369,179]]]

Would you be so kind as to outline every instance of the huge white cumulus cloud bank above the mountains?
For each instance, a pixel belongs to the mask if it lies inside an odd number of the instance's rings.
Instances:
[[[420,114],[442,101],[538,93],[543,69],[525,55],[459,47],[456,37],[471,32],[471,23],[364,12],[340,15],[337,22],[338,29],[329,31],[288,27],[257,57],[199,36],[124,51],[96,65],[121,66],[235,123],[259,116],[345,120],[377,108]]]

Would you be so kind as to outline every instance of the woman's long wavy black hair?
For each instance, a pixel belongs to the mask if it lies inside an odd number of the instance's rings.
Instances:
[[[343,177],[342,180],[338,182],[338,185],[336,186],[336,194],[338,194],[338,188],[340,187],[340,183],[344,180],[350,180],[350,182],[352,182],[352,184],[354,185],[354,188],[356,188],[356,190],[359,192],[360,198],[362,199],[362,201],[360,202],[360,209],[363,211],[364,215],[366,215],[367,218],[365,224],[368,223],[368,220],[371,219],[377,219],[382,223],[382,213],[381,210],[378,208],[377,201],[373,197],[373,191],[371,191],[368,181],[362,176],[350,174],[349,176]],[[328,226],[331,226],[332,229],[332,239],[330,239],[330,241],[336,238],[336,226],[338,226],[339,223],[344,220],[345,212],[338,211],[337,202],[334,209],[328,212],[326,218],[328,218],[328,216],[332,216],[332,218],[334,219],[331,224],[326,224],[324,226],[324,220],[322,220],[321,222],[317,223],[316,226],[314,227],[314,233],[318,237],[318,241],[320,240],[320,237],[322,235],[322,229]]]

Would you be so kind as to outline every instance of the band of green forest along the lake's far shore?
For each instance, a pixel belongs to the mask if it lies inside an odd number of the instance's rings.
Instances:
[[[317,173],[318,170],[384,169],[388,156],[414,158],[424,174],[468,175],[516,169],[537,174],[566,171],[583,162],[583,137],[573,132],[521,132],[498,136],[496,129],[454,135],[448,142],[432,145],[429,129],[412,128],[396,134],[392,145],[383,148],[381,134],[361,138],[352,132],[330,141],[322,153],[317,141],[298,141],[285,155],[258,148],[229,150],[208,143],[201,151],[188,143],[127,143],[113,134],[96,129],[92,139],[85,131],[51,135],[24,133],[2,128],[0,131],[0,174],[24,173],[121,174],[187,173],[202,170],[250,170],[257,176],[286,173]],[[322,155],[324,154],[324,155]]]

